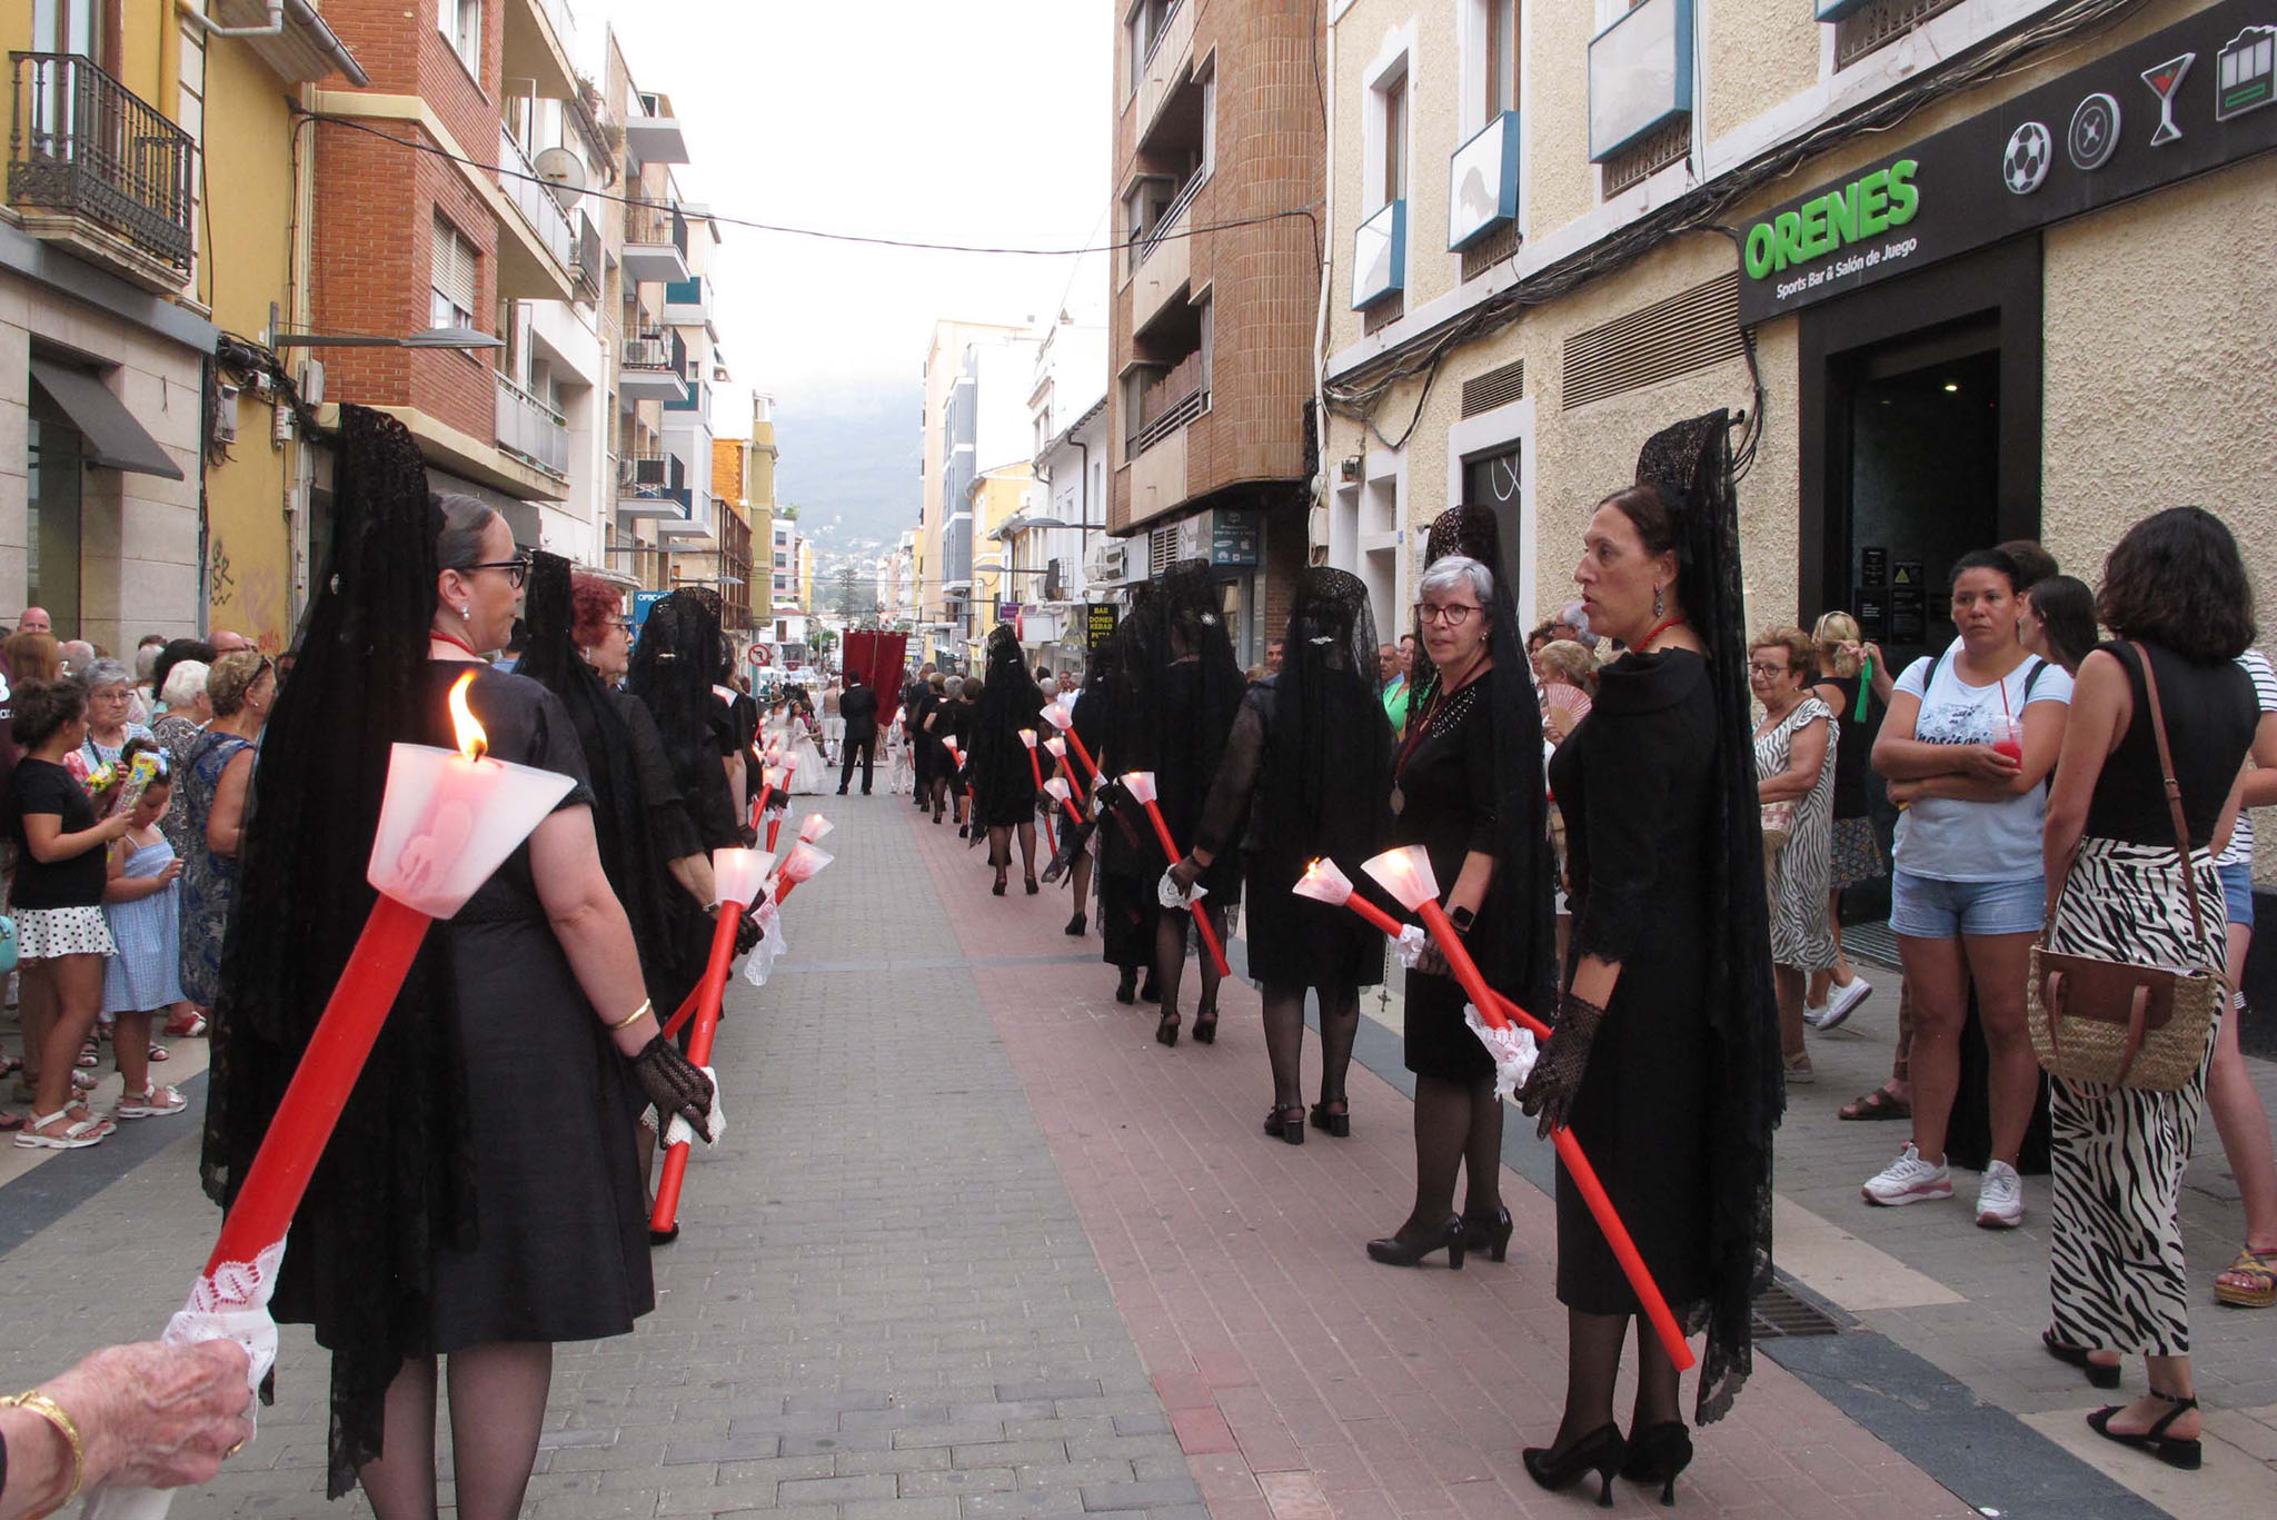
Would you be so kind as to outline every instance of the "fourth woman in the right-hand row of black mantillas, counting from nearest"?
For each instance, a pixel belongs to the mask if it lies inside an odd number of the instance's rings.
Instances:
[[[1234,732],[1234,713],[1248,681],[1241,661],[1234,659],[1234,640],[1218,615],[1218,588],[1209,579],[1209,563],[1184,558],[1161,572],[1154,590],[1154,606],[1148,615],[1148,675],[1141,690],[1143,722],[1136,732],[1129,763],[1116,761],[1118,770],[1152,770],[1157,807],[1170,825],[1170,841],[1191,845],[1202,825],[1202,798],[1218,777],[1218,761],[1225,759],[1225,736]],[[1141,823],[1152,836],[1152,825]],[[1161,861],[1157,850],[1152,864]],[[1150,871],[1159,880],[1159,871]],[[1241,900],[1241,861],[1218,859],[1200,873],[1200,884],[1209,896],[1202,912],[1209,914],[1218,943],[1225,941],[1225,909]],[[1152,882],[1150,882],[1152,884]],[[1161,1019],[1154,1039],[1166,1046],[1177,1044],[1177,987],[1186,971],[1186,941],[1193,914],[1164,907],[1154,921],[1154,984],[1161,989]],[[1193,1037],[1200,1044],[1218,1039],[1218,969],[1202,957],[1202,996],[1193,1007]]]

